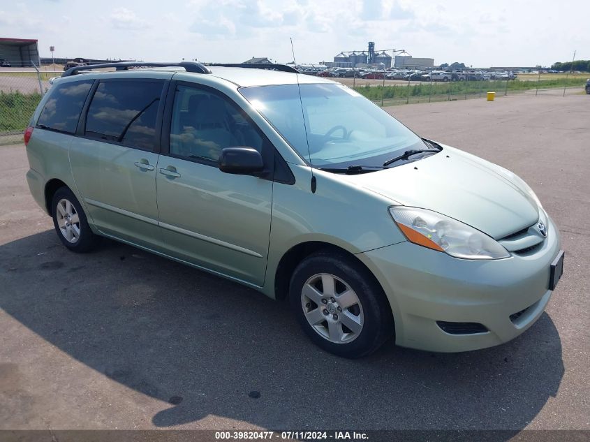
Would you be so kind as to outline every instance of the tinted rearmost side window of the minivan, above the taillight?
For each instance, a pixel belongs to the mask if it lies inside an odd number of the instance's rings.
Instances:
[[[37,120],[37,126],[75,133],[82,106],[91,86],[92,80],[55,84]]]

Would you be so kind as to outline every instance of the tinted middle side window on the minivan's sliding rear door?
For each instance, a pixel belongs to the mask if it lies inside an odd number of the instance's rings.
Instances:
[[[84,134],[138,149],[154,149],[162,87],[162,82],[101,82],[88,109]]]

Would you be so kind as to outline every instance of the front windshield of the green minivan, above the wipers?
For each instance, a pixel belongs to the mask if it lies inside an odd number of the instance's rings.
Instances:
[[[377,167],[408,149],[427,147],[397,119],[341,84],[239,91],[315,168]]]

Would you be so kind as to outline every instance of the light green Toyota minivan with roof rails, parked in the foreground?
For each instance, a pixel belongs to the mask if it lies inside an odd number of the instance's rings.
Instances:
[[[390,337],[484,348],[535,323],[564,255],[522,179],[342,84],[263,66],[105,64],[54,81],[24,142],[61,244],[109,237],[288,300],[347,358]]]

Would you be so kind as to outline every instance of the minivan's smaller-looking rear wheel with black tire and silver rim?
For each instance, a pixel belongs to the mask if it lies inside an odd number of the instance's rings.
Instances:
[[[54,193],[51,216],[57,237],[71,251],[85,253],[98,244],[100,238],[90,230],[82,205],[67,187],[61,187]]]

